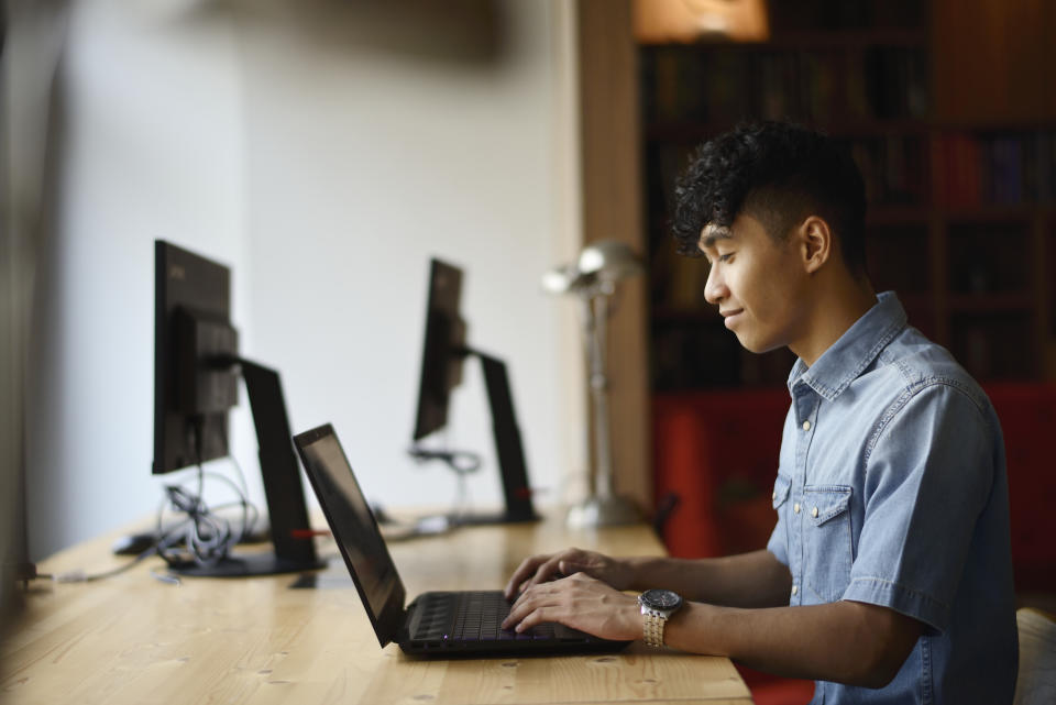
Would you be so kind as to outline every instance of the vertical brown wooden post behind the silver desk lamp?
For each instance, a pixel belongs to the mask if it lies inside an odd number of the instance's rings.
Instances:
[[[631,0],[578,0],[575,23],[583,244],[618,240],[647,257]],[[608,370],[616,491],[651,515],[647,279],[619,286]]]

